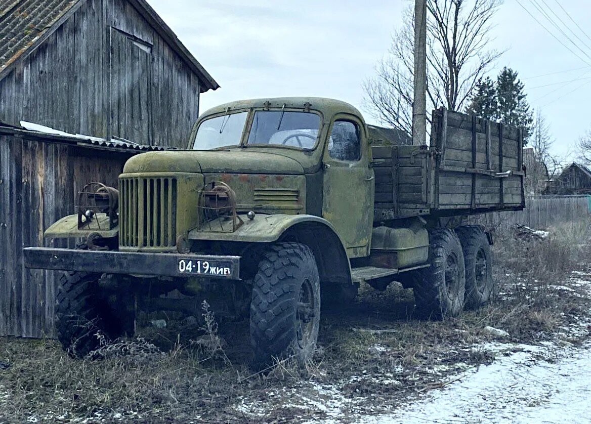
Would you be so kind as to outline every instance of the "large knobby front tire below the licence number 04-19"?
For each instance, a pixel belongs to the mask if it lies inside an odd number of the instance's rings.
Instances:
[[[320,279],[314,254],[304,244],[271,245],[254,277],[251,345],[258,365],[294,355],[305,362],[320,325]]]

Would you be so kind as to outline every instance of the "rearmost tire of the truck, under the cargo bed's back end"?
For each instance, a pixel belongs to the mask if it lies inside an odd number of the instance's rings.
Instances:
[[[466,265],[466,309],[477,309],[492,299],[492,251],[483,229],[478,225],[456,228]]]

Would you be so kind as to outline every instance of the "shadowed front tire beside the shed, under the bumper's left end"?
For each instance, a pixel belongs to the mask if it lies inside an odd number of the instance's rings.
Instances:
[[[123,335],[125,323],[100,292],[100,274],[68,272],[60,277],[56,299],[57,338],[73,358],[83,358],[106,341]]]

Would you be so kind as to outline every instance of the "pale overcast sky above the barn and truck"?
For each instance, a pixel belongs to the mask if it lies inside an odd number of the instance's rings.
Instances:
[[[202,95],[200,112],[238,99],[307,95],[352,103],[368,122],[375,119],[363,108],[362,83],[374,75],[376,61],[387,53],[391,34],[402,25],[402,10],[414,4],[412,0],[148,2],[221,86]],[[508,50],[490,75],[495,77],[503,66],[517,70],[530,105],[547,117],[556,140],[554,153],[570,154],[572,159],[574,141],[591,129],[591,2],[519,2],[505,0],[495,15],[491,47]],[[545,20],[534,2],[578,47]],[[554,74],[538,77],[548,73]]]

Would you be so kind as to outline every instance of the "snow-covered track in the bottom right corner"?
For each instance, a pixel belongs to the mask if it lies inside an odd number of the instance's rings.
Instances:
[[[532,352],[501,357],[434,390],[426,399],[369,423],[587,423],[591,416],[591,345],[569,349],[558,361],[540,361]]]

